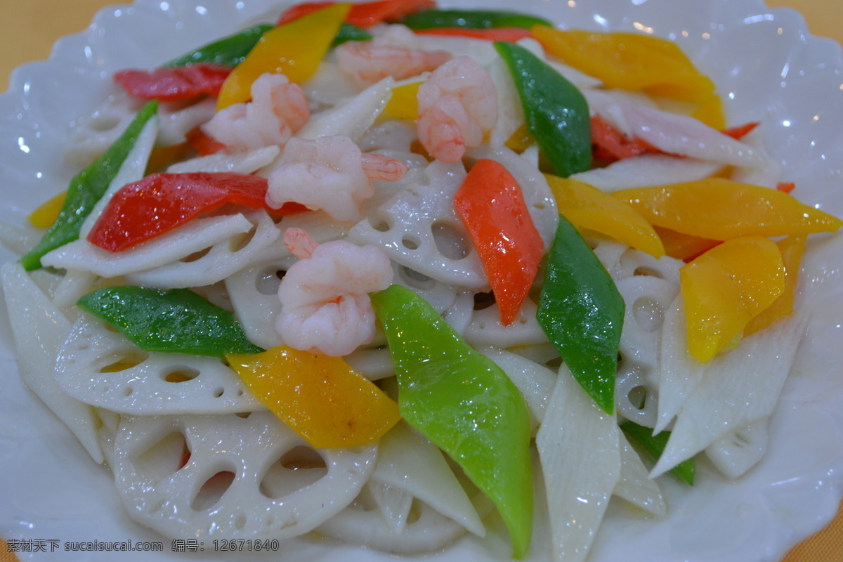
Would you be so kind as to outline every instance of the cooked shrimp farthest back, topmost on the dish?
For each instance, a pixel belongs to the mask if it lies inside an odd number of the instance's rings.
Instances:
[[[371,41],[348,41],[336,48],[340,70],[365,88],[382,78],[410,78],[439,67],[448,61],[448,51],[424,51],[388,45],[375,38]]]

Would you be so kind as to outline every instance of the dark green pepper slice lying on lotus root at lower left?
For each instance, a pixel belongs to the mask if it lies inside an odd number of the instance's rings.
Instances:
[[[234,314],[188,289],[112,286],[77,302],[145,351],[223,357],[266,351],[252,344]]]

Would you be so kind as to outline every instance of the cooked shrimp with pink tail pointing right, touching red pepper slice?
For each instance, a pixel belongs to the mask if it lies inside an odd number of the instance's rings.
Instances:
[[[293,138],[284,162],[269,178],[266,202],[278,208],[295,201],[338,221],[358,221],[360,204],[374,195],[372,180],[396,181],[406,172],[398,160],[361,153],[347,136]]]

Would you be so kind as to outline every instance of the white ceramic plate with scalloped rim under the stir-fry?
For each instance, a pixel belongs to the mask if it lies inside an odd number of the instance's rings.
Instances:
[[[223,5],[224,4],[224,5]],[[448,2],[480,6],[472,0]],[[512,8],[506,0],[483,5]],[[843,62],[840,46],[808,34],[791,10],[753,0],[520,0],[518,9],[565,27],[643,31],[676,40],[717,83],[731,124],[760,121],[768,150],[803,201],[843,215]],[[153,67],[272,10],[269,0],[138,0],[107,8],[51,60],[13,74],[0,98],[0,221],[23,223],[63,190],[69,123],[110,91],[110,73]],[[278,13],[280,8],[273,13]],[[13,256],[0,250],[0,260]],[[805,260],[800,302],[813,308],[808,337],[772,420],[765,460],[726,482],[705,464],[686,490],[666,479],[670,515],[648,521],[612,506],[591,560],[778,560],[830,520],[843,489],[843,238],[817,237]],[[21,559],[243,559],[244,553],[65,552],[71,541],[162,540],[128,520],[110,474],[95,466],[51,413],[21,387],[6,320],[0,324],[0,537],[54,540],[58,551]],[[534,552],[543,554],[541,544]],[[506,559],[501,538],[464,540],[437,561]],[[285,543],[271,559],[390,559],[359,549]]]

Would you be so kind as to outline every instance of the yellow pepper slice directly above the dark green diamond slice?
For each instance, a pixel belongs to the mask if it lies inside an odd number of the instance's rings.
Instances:
[[[660,258],[664,246],[650,223],[635,209],[608,193],[578,181],[545,174],[559,214],[579,229],[588,228]]]

